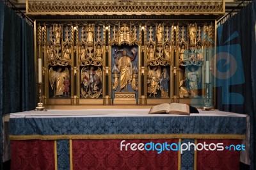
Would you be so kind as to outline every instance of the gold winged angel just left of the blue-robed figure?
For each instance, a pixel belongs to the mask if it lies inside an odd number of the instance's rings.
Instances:
[[[157,89],[159,89],[159,81],[161,76],[161,68],[160,66],[154,66],[152,70],[150,70],[148,66],[148,93],[149,97],[153,94],[154,97],[157,94]]]

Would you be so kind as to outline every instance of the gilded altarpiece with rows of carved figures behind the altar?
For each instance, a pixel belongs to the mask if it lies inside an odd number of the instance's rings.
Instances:
[[[45,105],[214,104],[212,17],[127,20],[123,15],[119,20],[36,20]]]

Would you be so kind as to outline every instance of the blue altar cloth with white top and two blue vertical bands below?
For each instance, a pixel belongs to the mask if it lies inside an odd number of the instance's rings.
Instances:
[[[70,140],[76,139],[245,139],[247,116],[200,111],[189,116],[148,114],[149,109],[84,109],[28,111],[9,114],[13,141],[54,140],[58,169],[70,167]],[[66,159],[66,160],[65,160]],[[63,161],[65,160],[65,161]],[[195,167],[195,152],[185,151],[180,168]],[[63,163],[65,162],[65,163]]]

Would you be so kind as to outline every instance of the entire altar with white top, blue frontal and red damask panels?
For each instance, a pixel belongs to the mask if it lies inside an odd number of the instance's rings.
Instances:
[[[8,114],[12,169],[239,169],[248,116],[221,111],[149,115],[148,111]],[[142,143],[157,146],[140,150]],[[186,149],[189,144],[196,150]]]

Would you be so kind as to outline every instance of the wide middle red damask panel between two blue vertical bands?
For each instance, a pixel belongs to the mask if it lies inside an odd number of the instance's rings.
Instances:
[[[73,169],[178,169],[178,151],[120,151],[121,139],[73,140]],[[178,139],[136,139],[125,143],[178,143]]]

